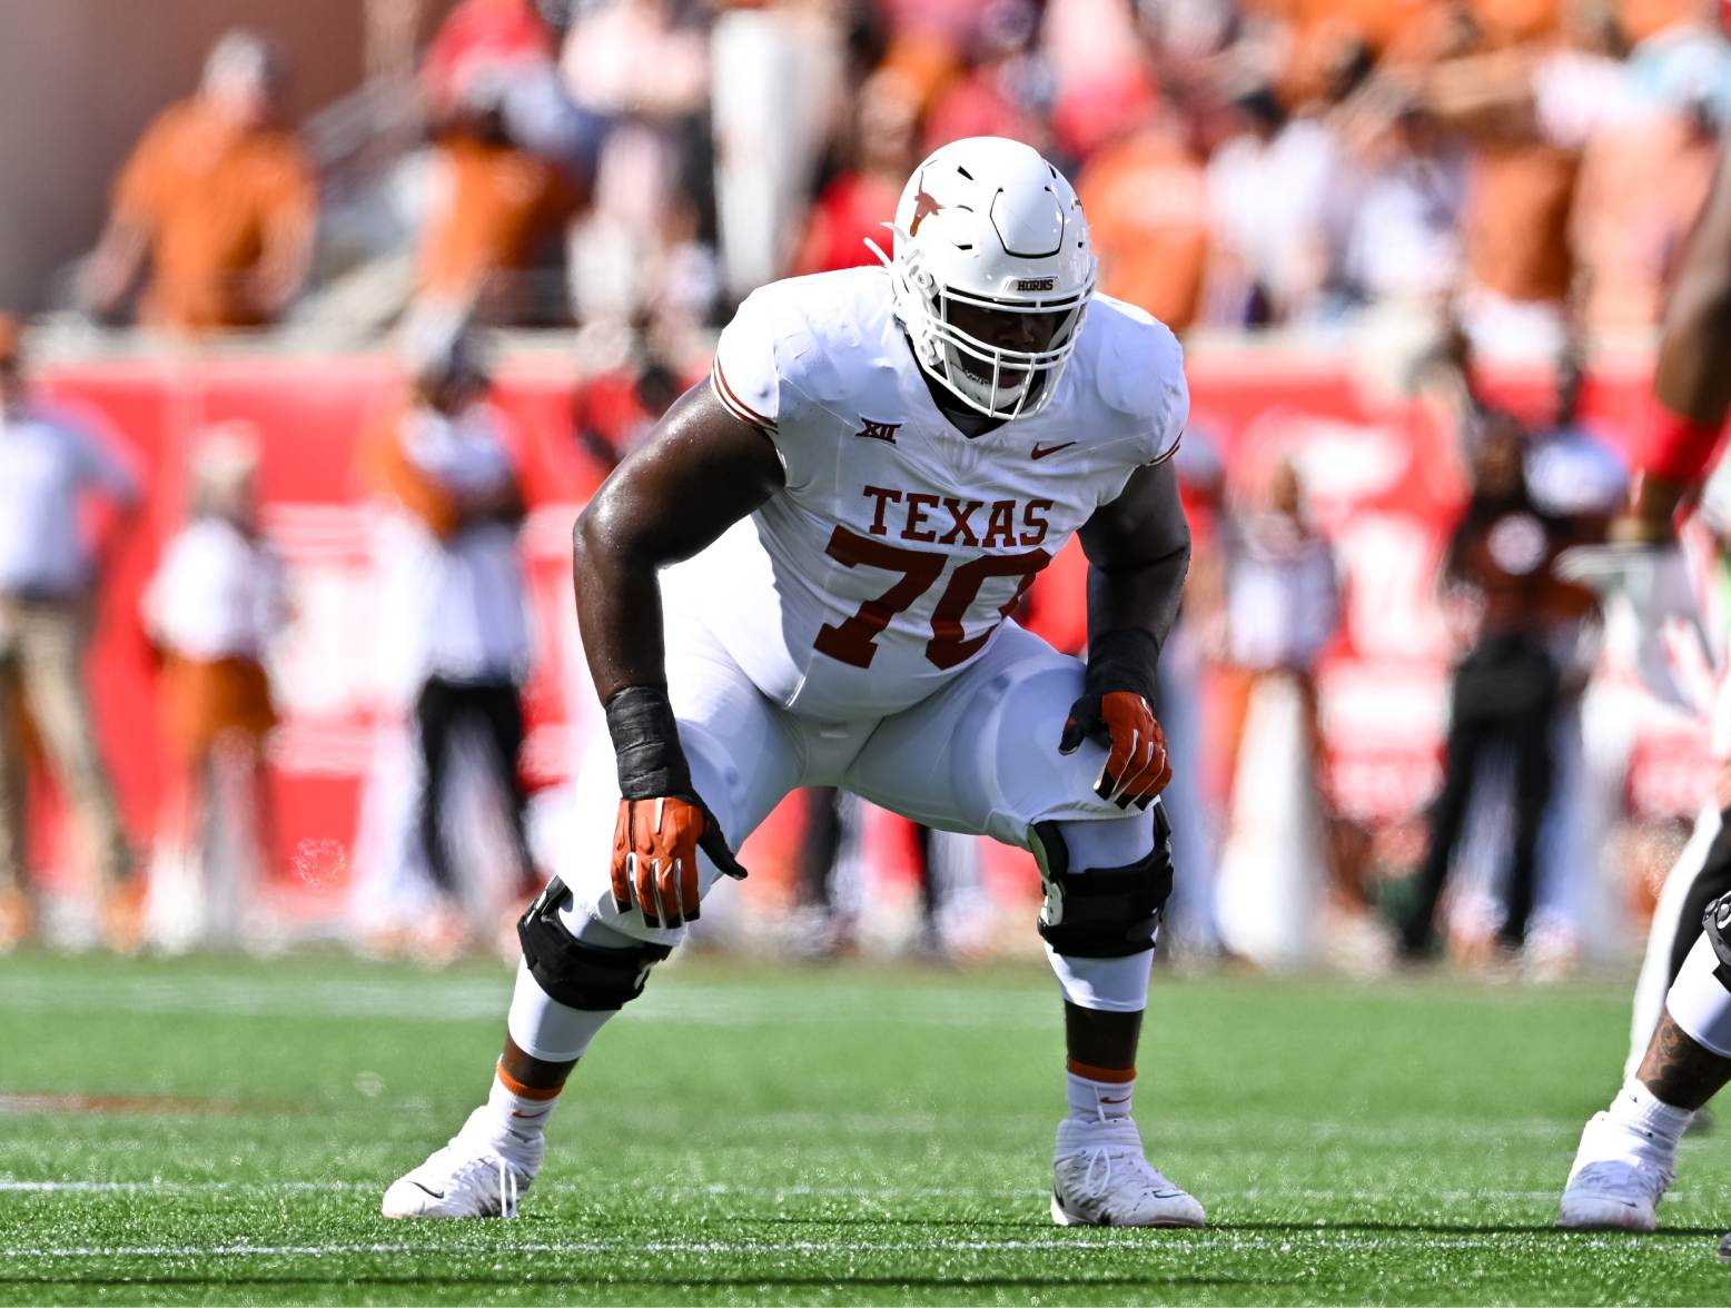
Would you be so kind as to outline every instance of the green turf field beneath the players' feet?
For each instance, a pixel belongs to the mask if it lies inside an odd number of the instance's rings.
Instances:
[[[1059,1230],[1035,969],[663,969],[514,1221],[376,1216],[509,978],[0,962],[5,1303],[1731,1303],[1731,1130],[1650,1237],[1551,1230],[1625,988],[1156,979],[1137,1118],[1200,1232]],[[55,1097],[52,1102],[42,1097]]]

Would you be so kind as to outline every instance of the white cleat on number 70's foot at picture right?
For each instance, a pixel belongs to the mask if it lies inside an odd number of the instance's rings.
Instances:
[[[1142,1156],[1129,1118],[1058,1123],[1052,1151],[1052,1221],[1059,1227],[1200,1227],[1191,1196]]]

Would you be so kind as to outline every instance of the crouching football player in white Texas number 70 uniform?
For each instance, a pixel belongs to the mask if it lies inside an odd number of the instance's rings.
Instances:
[[[751,294],[578,519],[611,737],[580,773],[582,848],[521,920],[486,1104],[386,1216],[509,1209],[595,1031],[744,875],[730,841],[836,785],[1033,853],[1068,1045],[1052,1218],[1203,1223],[1130,1118],[1172,888],[1149,702],[1189,561],[1179,344],[1094,294],[1075,190],[1018,142],[919,164],[879,258]],[[1085,666],[1007,619],[1071,533]]]

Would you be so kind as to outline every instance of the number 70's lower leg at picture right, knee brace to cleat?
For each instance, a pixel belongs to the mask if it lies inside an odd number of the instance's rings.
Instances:
[[[1142,1152],[1136,1050],[1160,914],[1172,891],[1170,827],[1134,818],[1039,824],[1040,934],[1065,995],[1065,1100],[1052,1147],[1063,1227],[1200,1227],[1200,1202]]]

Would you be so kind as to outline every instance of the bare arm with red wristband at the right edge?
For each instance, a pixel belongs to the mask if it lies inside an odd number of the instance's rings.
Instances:
[[[1726,151],[1665,305],[1648,446],[1620,540],[1672,535],[1672,516],[1700,486],[1731,408],[1731,166]]]

